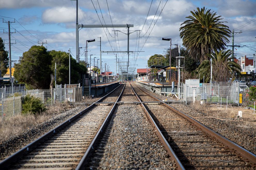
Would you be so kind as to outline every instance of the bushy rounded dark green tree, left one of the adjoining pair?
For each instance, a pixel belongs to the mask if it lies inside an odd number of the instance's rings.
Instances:
[[[19,82],[25,82],[30,89],[49,88],[51,82],[51,61],[47,49],[43,46],[32,46],[24,52],[15,64],[14,77]]]

